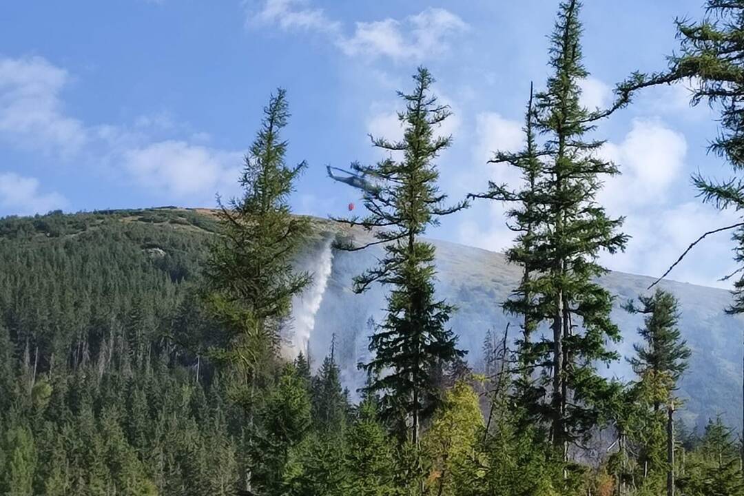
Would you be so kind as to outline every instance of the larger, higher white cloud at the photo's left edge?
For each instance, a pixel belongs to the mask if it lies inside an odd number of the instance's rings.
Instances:
[[[79,120],[64,115],[60,91],[69,75],[41,57],[0,58],[0,134],[34,149],[72,153],[87,141]]]

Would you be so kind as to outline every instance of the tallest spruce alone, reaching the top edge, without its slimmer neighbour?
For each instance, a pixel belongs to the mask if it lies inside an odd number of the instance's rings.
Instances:
[[[551,422],[554,446],[568,459],[571,442],[586,436],[600,422],[603,404],[614,384],[595,370],[600,361],[617,358],[606,346],[618,341],[612,323],[612,297],[596,278],[606,272],[597,263],[600,251],[622,250],[627,236],[618,230],[623,219],[611,219],[596,196],[605,177],[615,175],[614,164],[597,156],[603,141],[589,138],[594,123],[607,112],[589,112],[580,103],[579,83],[589,73],[582,64],[581,3],[560,4],[551,36],[547,88],[536,95],[535,131],[545,137],[538,190],[539,219],[533,224],[533,246],[538,256],[528,283],[541,318],[551,324],[539,364],[551,381],[545,413]]]

